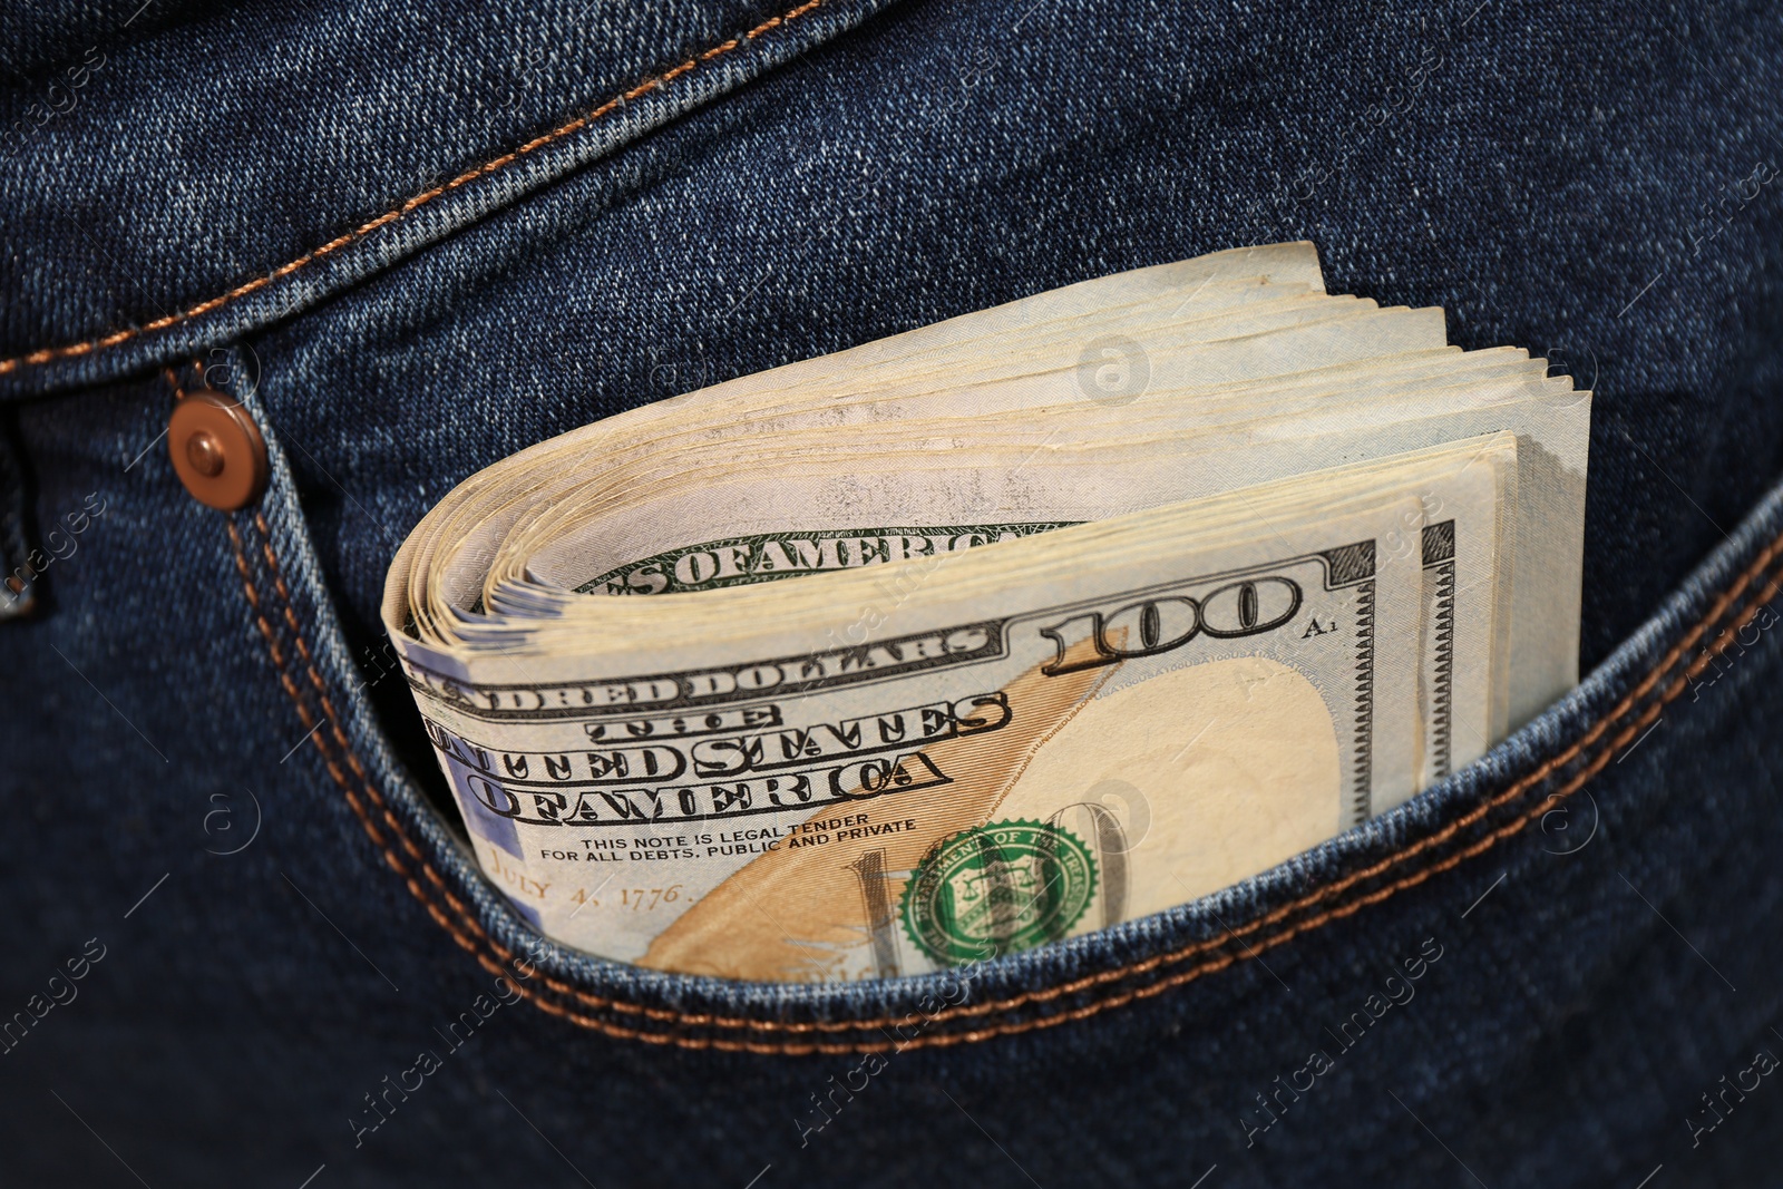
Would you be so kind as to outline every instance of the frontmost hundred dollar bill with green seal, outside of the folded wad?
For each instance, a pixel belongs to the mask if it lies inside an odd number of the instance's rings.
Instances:
[[[756,624],[720,642],[665,613],[599,658],[399,644],[478,857],[547,934],[735,979],[915,973],[1180,904],[1407,795],[1405,542],[1425,501],[1466,508],[1491,572],[1514,451],[834,574],[842,608],[909,592],[843,647],[834,613],[749,615],[801,583],[697,595]]]

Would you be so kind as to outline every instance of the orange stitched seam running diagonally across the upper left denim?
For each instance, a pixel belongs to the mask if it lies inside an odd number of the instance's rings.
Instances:
[[[415,194],[414,198],[410,198],[408,201],[405,201],[401,207],[398,207],[394,210],[387,210],[385,214],[378,216],[371,223],[366,223],[362,226],[353,228],[351,232],[348,232],[344,235],[330,239],[321,248],[316,248],[314,251],[307,251],[307,253],[303,253],[301,257],[298,257],[296,260],[292,260],[289,264],[282,264],[280,267],[273,269],[266,276],[257,276],[251,282],[248,282],[244,285],[237,285],[235,289],[230,289],[228,292],[225,292],[225,294],[221,294],[218,298],[210,298],[209,301],[200,301],[193,308],[184,310],[180,314],[168,314],[168,316],[157,317],[157,319],[153,319],[150,323],[143,323],[141,326],[130,326],[127,330],[112,332],[112,333],[109,333],[109,335],[105,335],[102,339],[87,339],[86,342],[75,342],[75,344],[62,346],[62,348],[45,348],[41,351],[30,351],[29,355],[18,355],[18,357],[9,358],[9,360],[0,360],[0,376],[7,374],[11,371],[16,371],[20,367],[37,365],[37,364],[50,364],[53,360],[73,358],[77,355],[89,355],[93,351],[102,351],[105,348],[114,348],[119,342],[127,342],[130,339],[136,339],[137,335],[144,335],[144,333],[150,333],[150,332],[155,332],[155,330],[166,330],[168,326],[177,326],[178,323],[187,323],[187,321],[191,321],[194,317],[209,314],[210,310],[221,308],[221,307],[228,305],[230,301],[235,301],[237,298],[246,298],[248,294],[251,294],[251,292],[255,292],[259,289],[264,289],[264,287],[271,285],[273,282],[289,276],[291,273],[296,273],[298,269],[305,267],[307,264],[312,264],[316,260],[321,260],[323,257],[333,255],[335,251],[339,251],[339,250],[346,248],[348,244],[351,244],[351,242],[355,242],[355,241],[369,235],[371,232],[376,232],[382,226],[396,223],[398,219],[401,219],[403,216],[407,216],[408,212],[412,212],[415,207],[423,207],[423,205],[433,201],[435,198],[439,198],[440,194],[448,194],[448,193],[458,189],[460,185],[467,185],[471,182],[476,182],[478,178],[489,176],[490,173],[497,173],[501,169],[506,169],[508,166],[512,166],[515,160],[521,160],[528,153],[537,152],[537,150],[540,150],[540,148],[544,148],[547,144],[555,144],[556,141],[562,141],[563,137],[572,135],[572,134],[587,128],[588,125],[603,119],[604,116],[612,114],[613,111],[617,111],[624,103],[629,103],[633,100],[640,100],[645,94],[649,94],[651,91],[660,91],[660,89],[670,86],[676,78],[681,78],[683,75],[688,75],[688,73],[699,70],[701,66],[704,66],[706,62],[711,62],[715,59],[724,57],[726,53],[740,50],[742,46],[749,45],[756,37],[760,37],[760,36],[763,36],[763,34],[767,34],[767,32],[770,32],[774,29],[779,29],[781,25],[785,25],[788,21],[799,20],[806,12],[809,12],[809,11],[817,9],[817,7],[822,7],[826,2],[827,0],[804,0],[804,4],[801,4],[795,9],[788,9],[786,12],[781,12],[779,16],[770,16],[768,20],[761,21],[760,25],[756,25],[754,29],[751,29],[749,32],[738,34],[736,37],[731,37],[729,41],[720,41],[719,45],[711,46],[710,50],[704,50],[704,52],[695,53],[694,57],[686,59],[679,66],[674,66],[672,70],[667,70],[667,71],[663,71],[663,73],[660,73],[660,75],[656,75],[653,78],[645,78],[644,82],[640,82],[638,86],[631,87],[629,91],[622,91],[620,94],[615,94],[613,98],[606,100],[604,103],[601,103],[599,107],[596,107],[592,112],[588,112],[585,116],[578,116],[576,119],[571,119],[569,123],[565,123],[565,125],[562,125],[558,128],[553,128],[551,132],[546,132],[544,135],[537,135],[531,141],[528,141],[526,144],[521,144],[514,152],[503,153],[501,157],[496,157],[494,160],[485,160],[483,164],[480,164],[480,166],[476,166],[472,169],[465,169],[464,173],[460,173],[458,176],[455,176],[451,182],[446,182],[444,185],[435,185],[430,191],[423,191],[423,193]]]

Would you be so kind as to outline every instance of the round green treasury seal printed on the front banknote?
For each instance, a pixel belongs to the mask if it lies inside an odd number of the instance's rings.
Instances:
[[[904,931],[947,966],[1057,941],[1097,895],[1097,863],[1045,822],[988,822],[941,841],[904,886]]]

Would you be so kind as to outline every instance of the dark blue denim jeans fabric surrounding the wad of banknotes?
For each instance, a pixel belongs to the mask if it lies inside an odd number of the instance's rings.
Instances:
[[[0,1052],[0,1180],[1774,1184],[1783,1087],[1724,1089],[1783,1055],[1783,644],[1769,610],[1731,627],[1783,535],[1774,12],[824,0],[765,27],[792,11],[0,18],[29,123],[0,144],[12,488],[39,537],[105,508],[0,624],[0,1023],[77,991]],[[55,80],[68,111],[23,116]],[[1453,340],[1596,390],[1571,697],[1278,870],[966,984],[615,966],[474,870],[376,629],[451,485],[735,374],[1300,237],[1332,291],[1439,303]],[[266,430],[257,510],[168,463],[193,360]],[[1312,1050],[1332,1068],[1264,1130]],[[1733,1105],[1713,1130],[1703,1095]]]

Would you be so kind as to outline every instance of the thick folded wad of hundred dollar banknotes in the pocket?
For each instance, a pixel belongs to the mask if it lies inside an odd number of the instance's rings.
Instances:
[[[1275,866],[1565,692],[1589,421],[1311,244],[1221,251],[521,451],[383,617],[540,931],[918,973]]]

